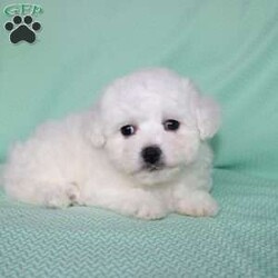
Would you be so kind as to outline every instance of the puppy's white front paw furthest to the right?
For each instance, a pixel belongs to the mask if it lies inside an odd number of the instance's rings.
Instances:
[[[208,192],[192,191],[178,201],[176,210],[178,214],[195,217],[216,216],[218,205]]]

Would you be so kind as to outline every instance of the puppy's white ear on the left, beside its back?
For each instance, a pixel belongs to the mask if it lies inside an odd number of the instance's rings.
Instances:
[[[98,106],[93,107],[86,117],[85,136],[93,147],[102,148],[106,143],[103,126]]]

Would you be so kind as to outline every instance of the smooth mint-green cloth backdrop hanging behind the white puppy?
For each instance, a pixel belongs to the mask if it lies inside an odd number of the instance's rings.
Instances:
[[[278,177],[277,1],[37,3],[34,44],[11,44],[1,28],[2,161],[39,122],[87,108],[117,77],[163,66],[221,103],[218,167]],[[8,20],[2,14],[1,26]]]

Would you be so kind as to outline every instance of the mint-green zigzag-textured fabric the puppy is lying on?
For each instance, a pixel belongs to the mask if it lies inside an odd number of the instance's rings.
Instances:
[[[1,197],[0,277],[277,277],[277,183],[227,170],[215,182],[216,218],[143,221]]]

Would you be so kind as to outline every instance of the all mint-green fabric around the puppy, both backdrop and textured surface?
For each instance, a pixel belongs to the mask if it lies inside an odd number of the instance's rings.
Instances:
[[[211,142],[221,211],[141,221],[0,190],[0,277],[278,277],[278,1],[38,1],[32,44],[9,41],[13,3],[0,3],[0,161],[112,79],[169,67],[222,107]]]

